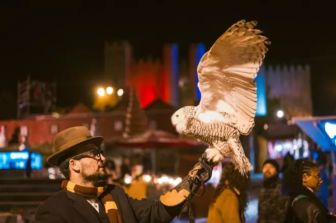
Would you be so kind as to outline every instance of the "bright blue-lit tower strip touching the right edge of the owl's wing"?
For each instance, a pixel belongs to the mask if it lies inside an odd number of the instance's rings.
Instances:
[[[267,115],[266,103],[266,83],[265,83],[265,68],[262,65],[256,77],[257,82],[257,112],[256,116]]]

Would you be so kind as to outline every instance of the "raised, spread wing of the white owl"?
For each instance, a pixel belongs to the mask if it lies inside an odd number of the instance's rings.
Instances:
[[[202,98],[197,117],[216,112],[229,115],[240,134],[248,135],[257,109],[255,78],[267,52],[267,38],[254,29],[256,21],[232,25],[206,52],[198,66]]]

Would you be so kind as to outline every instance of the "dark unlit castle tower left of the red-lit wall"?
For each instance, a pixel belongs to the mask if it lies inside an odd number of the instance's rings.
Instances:
[[[105,43],[104,48],[105,80],[115,88],[128,86],[132,61],[132,47],[127,41],[121,43]]]

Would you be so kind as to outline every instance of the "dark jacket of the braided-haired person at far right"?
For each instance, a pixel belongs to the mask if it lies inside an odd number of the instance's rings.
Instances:
[[[293,203],[298,195],[307,196]],[[291,206],[293,204],[293,206]],[[335,222],[334,216],[328,213],[328,209],[319,201],[313,192],[303,188],[291,197],[288,203],[288,213],[285,222],[290,223],[327,223]]]

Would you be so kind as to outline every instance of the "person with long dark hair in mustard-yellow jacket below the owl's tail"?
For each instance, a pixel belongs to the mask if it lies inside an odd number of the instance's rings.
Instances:
[[[250,178],[239,173],[232,163],[222,169],[214,198],[210,204],[208,223],[244,223]]]

